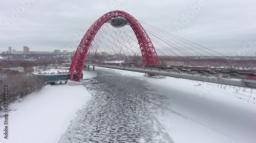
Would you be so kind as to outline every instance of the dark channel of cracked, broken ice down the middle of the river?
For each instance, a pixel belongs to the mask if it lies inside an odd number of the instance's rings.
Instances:
[[[97,73],[82,81],[92,98],[59,142],[174,142],[152,112],[168,107],[153,104],[142,81]]]

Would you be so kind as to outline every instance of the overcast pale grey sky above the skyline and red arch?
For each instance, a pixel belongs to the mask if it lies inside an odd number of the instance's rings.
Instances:
[[[203,6],[195,16],[182,22],[182,15],[199,3]],[[31,51],[65,49],[70,44],[77,47],[79,42],[74,39],[112,10],[126,11],[140,21],[225,55],[244,52],[251,56],[256,52],[255,0],[1,0],[0,51],[7,51],[8,46],[16,50],[28,46]]]

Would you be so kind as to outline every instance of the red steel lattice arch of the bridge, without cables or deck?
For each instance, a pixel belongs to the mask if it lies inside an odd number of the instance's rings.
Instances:
[[[107,22],[111,18],[115,17],[124,17],[127,21],[131,23],[131,27],[138,39],[138,43],[140,45],[140,50],[142,53],[143,62],[145,65],[160,65],[155,47],[152,44],[152,41],[146,34],[146,31],[141,26],[138,20],[136,20],[132,15],[126,13],[124,11],[111,11],[103,16],[101,16],[98,20],[96,20],[87,33],[83,36],[72,61],[70,67],[70,80],[79,81],[82,75],[82,69],[84,62],[86,61],[86,56],[93,41],[93,38],[97,34],[100,27]]]

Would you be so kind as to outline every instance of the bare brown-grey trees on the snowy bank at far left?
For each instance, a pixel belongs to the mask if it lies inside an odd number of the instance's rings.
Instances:
[[[39,92],[46,83],[43,77],[32,73],[2,73],[0,76],[0,110],[4,103],[5,85],[8,86],[8,103],[12,103],[31,93]]]

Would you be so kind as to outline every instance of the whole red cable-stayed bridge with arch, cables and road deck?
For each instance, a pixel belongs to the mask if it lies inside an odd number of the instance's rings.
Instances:
[[[151,69],[100,64],[115,59],[151,67]],[[89,63],[89,60],[94,64]],[[226,79],[222,78],[220,71],[214,69],[212,71],[218,74],[217,77],[202,76],[202,74],[195,74],[191,71],[188,71],[191,74],[159,71],[159,66],[162,65],[170,65],[170,68],[175,68],[172,65],[182,66],[185,63],[187,66],[205,73],[205,70],[200,67],[211,65],[211,63],[232,65],[234,61],[237,64],[251,67],[248,61],[234,59],[160,30],[150,24],[138,21],[129,13],[111,11],[97,19],[81,39],[70,67],[70,80],[79,82],[84,64],[87,63],[87,65],[104,68],[255,88],[256,80],[251,80],[254,79],[253,75],[251,79]]]

